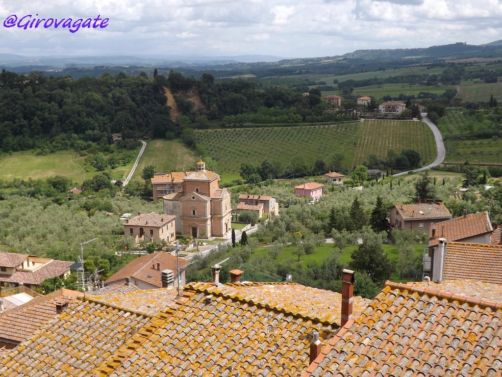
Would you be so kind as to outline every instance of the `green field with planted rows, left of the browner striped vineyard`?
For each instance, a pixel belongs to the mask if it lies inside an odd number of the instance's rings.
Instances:
[[[199,130],[201,148],[218,162],[222,178],[239,174],[242,162],[278,161],[284,167],[298,160],[308,166],[316,159],[328,160],[333,153],[344,153],[351,166],[360,123],[326,126],[292,126],[245,129]]]

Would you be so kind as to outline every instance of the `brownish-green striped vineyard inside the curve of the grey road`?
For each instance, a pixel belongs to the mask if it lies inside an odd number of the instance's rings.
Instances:
[[[366,120],[362,125],[353,164],[362,164],[370,154],[387,157],[387,151],[390,149],[397,153],[403,149],[416,150],[422,157],[423,165],[431,163],[437,156],[434,135],[425,123]]]

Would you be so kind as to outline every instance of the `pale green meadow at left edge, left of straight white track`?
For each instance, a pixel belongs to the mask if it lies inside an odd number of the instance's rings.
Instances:
[[[133,154],[136,160],[138,152],[139,149],[125,153]],[[84,179],[89,179],[98,173],[94,168],[84,166],[84,159],[85,157],[79,156],[75,151],[61,151],[45,156],[37,156],[33,151],[12,152],[12,154],[0,156],[0,179],[28,179],[30,177],[42,179],[62,175],[71,178],[75,183],[81,183]],[[126,166],[118,166],[105,171],[115,179],[122,179],[131,171],[134,160]],[[84,172],[82,168],[86,171]]]

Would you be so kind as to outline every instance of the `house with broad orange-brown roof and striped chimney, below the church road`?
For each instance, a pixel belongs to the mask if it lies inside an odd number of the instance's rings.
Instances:
[[[119,269],[108,277],[105,285],[134,285],[141,290],[156,288],[176,287],[176,270],[179,267],[178,280],[180,287],[185,285],[185,268],[188,264],[183,258],[166,253],[164,251],[143,255],[133,259],[126,266]],[[168,280],[163,281],[164,277]]]

